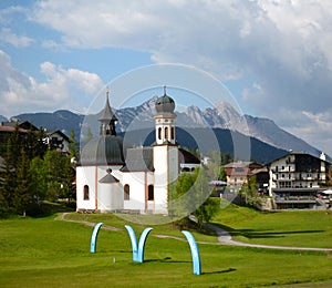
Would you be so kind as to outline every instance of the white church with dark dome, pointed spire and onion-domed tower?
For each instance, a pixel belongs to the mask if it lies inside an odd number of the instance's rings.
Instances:
[[[100,135],[84,145],[76,166],[77,212],[168,213],[169,184],[200,161],[176,142],[175,102],[166,88],[155,106],[154,144],[131,147],[116,134],[117,119],[106,93]]]

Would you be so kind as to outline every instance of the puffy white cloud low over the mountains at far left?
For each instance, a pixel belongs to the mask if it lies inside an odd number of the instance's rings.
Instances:
[[[94,73],[76,69],[63,69],[51,62],[41,64],[45,82],[38,82],[20,73],[11,65],[8,54],[0,50],[0,114],[13,116],[24,112],[45,112],[69,109],[83,112],[83,103],[90,103],[103,88]],[[39,111],[37,111],[39,110]]]

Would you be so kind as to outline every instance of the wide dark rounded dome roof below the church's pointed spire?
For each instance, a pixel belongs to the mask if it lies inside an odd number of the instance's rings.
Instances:
[[[124,165],[123,138],[102,135],[89,141],[81,152],[81,165]]]

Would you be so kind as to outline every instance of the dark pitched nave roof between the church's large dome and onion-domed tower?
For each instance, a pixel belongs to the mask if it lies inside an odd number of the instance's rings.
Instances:
[[[128,148],[126,165],[122,172],[147,172],[154,171],[153,147]]]

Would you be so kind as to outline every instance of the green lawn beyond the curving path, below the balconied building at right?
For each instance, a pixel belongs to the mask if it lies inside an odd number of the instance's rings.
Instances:
[[[258,212],[229,204],[212,222],[240,241],[332,248],[331,210]]]

